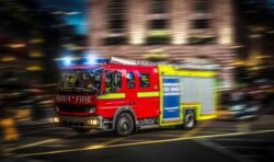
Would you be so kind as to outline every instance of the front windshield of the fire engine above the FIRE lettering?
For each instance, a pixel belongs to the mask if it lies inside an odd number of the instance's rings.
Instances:
[[[59,91],[99,93],[101,90],[102,72],[102,69],[65,70],[60,74]]]

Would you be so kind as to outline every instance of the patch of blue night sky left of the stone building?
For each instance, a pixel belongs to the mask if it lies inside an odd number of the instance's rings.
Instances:
[[[62,11],[68,24],[75,25],[78,34],[88,34],[87,2],[88,0],[37,0],[43,8]]]

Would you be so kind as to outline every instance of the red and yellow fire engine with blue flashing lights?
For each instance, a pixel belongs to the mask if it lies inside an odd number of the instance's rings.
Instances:
[[[213,69],[121,58],[69,65],[60,72],[55,121],[78,132],[101,129],[121,136],[151,127],[192,129],[217,116]]]

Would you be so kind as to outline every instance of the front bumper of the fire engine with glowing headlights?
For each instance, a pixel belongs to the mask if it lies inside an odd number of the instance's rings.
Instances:
[[[101,116],[77,117],[59,115],[55,121],[62,127],[103,129],[103,118]]]

